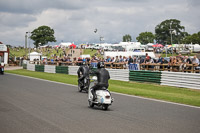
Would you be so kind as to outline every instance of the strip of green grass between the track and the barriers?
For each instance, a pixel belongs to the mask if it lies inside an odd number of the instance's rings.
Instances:
[[[77,85],[77,76],[73,75],[34,72],[23,69],[7,70],[6,72]],[[115,80],[110,80],[109,84],[109,90],[113,92],[154,98],[193,106],[200,106],[199,90],[161,86],[149,83],[124,82]]]

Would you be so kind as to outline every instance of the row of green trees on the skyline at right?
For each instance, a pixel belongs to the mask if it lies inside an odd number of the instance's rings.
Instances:
[[[127,40],[132,40],[129,34],[123,36],[123,41],[127,42]],[[154,41],[160,44],[200,44],[200,32],[190,35],[181,25],[181,21],[169,19],[155,27],[155,34],[147,31],[142,32],[136,37],[136,40],[142,44],[153,43]]]

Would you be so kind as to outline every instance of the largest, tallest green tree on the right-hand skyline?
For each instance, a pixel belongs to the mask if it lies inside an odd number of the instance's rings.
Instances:
[[[155,38],[157,43],[171,44],[180,43],[184,37],[188,35],[185,27],[180,25],[180,21],[176,19],[165,20],[155,27]]]

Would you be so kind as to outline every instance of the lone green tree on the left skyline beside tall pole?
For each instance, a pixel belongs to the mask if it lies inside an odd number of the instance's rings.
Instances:
[[[56,42],[54,37],[54,30],[48,26],[40,26],[31,32],[30,38],[34,41],[37,48],[39,45],[43,46],[48,42]]]

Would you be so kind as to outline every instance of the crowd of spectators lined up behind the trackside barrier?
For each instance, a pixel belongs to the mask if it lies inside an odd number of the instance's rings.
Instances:
[[[60,61],[60,62],[73,62],[74,65],[81,65],[83,61],[85,61],[87,64],[95,64],[99,61],[105,62],[105,64],[111,65],[113,64],[123,64],[123,68],[129,68],[130,65],[132,64],[137,64],[138,66],[142,66],[143,69],[145,69],[146,64],[150,64],[150,68],[154,67],[160,67],[162,69],[163,67],[170,69],[170,67],[173,66],[175,71],[184,71],[186,69],[191,69],[191,66],[188,66],[187,64],[193,64],[195,65],[195,69],[197,66],[199,66],[199,59],[197,56],[188,57],[188,56],[182,56],[179,54],[178,56],[171,56],[169,58],[163,58],[159,56],[158,58],[151,58],[148,54],[146,56],[134,56],[134,57],[125,57],[125,56],[115,56],[115,57],[110,57],[107,56],[106,58],[98,58],[97,56],[93,57],[87,57],[87,58],[74,58],[71,59],[68,56],[65,56],[63,58],[57,57],[56,59],[52,60],[46,60],[46,61]],[[152,65],[151,65],[152,64]],[[157,65],[155,65],[157,64]],[[159,66],[159,64],[161,64]],[[162,65],[165,64],[165,65]],[[157,68],[159,69],[159,68]]]

